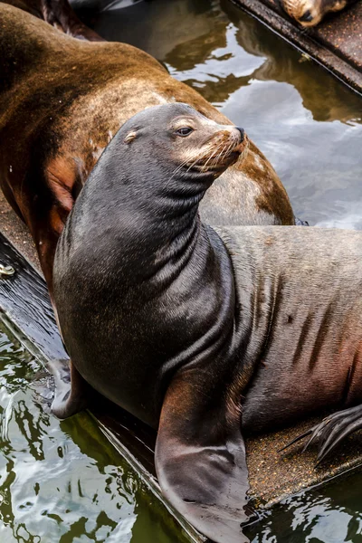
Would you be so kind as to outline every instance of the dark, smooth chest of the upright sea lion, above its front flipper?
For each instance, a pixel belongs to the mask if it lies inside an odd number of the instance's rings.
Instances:
[[[233,327],[231,262],[224,251],[215,265],[207,243],[205,251],[203,243],[195,250],[196,240],[208,237],[196,225],[186,244],[173,241],[171,257],[169,251],[147,256],[131,244],[122,252],[122,266],[116,233],[95,228],[94,235],[71,239],[72,219],[54,263],[58,316],[71,360],[102,395],[157,427],[177,369],[193,365],[202,380],[205,357],[218,352]],[[218,236],[209,233],[223,251]]]

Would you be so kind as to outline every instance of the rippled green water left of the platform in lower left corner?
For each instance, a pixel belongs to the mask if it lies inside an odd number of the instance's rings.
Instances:
[[[186,543],[89,414],[46,412],[40,370],[0,327],[1,543]]]

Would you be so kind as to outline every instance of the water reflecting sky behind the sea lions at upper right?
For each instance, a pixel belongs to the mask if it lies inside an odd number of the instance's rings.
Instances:
[[[243,126],[300,218],[362,228],[362,100],[327,71],[230,0],[119,0],[93,26],[166,62]]]

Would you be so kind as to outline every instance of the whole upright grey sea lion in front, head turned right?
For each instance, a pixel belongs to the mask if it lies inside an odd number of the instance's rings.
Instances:
[[[242,139],[185,104],[138,113],[90,174],[54,262],[74,365],[158,426],[162,490],[217,543],[246,541],[242,426],[362,397],[362,233],[199,219]]]

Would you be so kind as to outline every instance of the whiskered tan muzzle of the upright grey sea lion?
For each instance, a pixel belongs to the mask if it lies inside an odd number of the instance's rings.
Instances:
[[[205,142],[198,156],[186,164],[187,170],[220,175],[237,160],[243,160],[248,147],[249,139],[243,129],[222,130]]]

